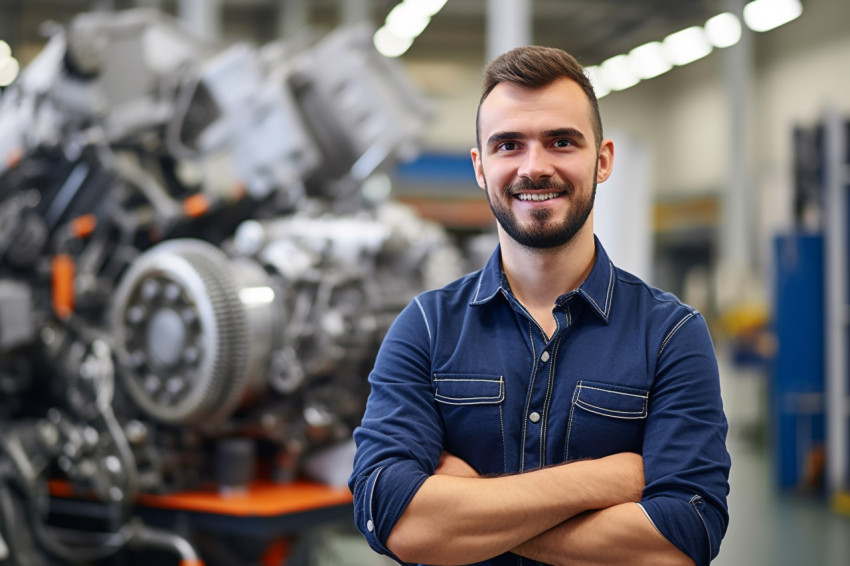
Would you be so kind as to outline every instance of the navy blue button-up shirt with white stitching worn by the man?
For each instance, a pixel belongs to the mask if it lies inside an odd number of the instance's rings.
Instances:
[[[443,450],[480,474],[635,452],[652,523],[697,565],[717,555],[730,458],[702,316],[616,268],[598,240],[590,275],[553,313],[547,337],[511,294],[497,248],[483,270],[398,316],[354,432],[355,523],[373,549],[392,556],[384,543]]]

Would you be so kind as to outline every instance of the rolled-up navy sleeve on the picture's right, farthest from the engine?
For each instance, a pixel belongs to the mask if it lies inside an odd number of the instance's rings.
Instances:
[[[704,319],[679,311],[668,328],[644,436],[641,506],[671,543],[704,566],[717,556],[729,523],[727,423]]]

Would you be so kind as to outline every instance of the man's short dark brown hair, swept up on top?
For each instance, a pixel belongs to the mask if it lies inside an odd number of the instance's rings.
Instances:
[[[484,68],[484,90],[478,101],[475,115],[475,142],[481,149],[481,104],[490,95],[496,85],[503,82],[513,83],[527,88],[543,88],[558,79],[567,78],[576,82],[590,102],[593,135],[596,147],[602,143],[602,117],[599,114],[599,102],[590,79],[575,57],[554,47],[529,45],[507,51]]]

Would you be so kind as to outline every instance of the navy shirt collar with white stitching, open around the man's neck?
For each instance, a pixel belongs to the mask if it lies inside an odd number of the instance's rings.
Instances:
[[[611,314],[611,302],[614,296],[614,264],[608,258],[605,248],[595,235],[593,237],[596,246],[596,257],[593,268],[587,279],[579,288],[558,297],[557,304],[563,305],[571,296],[581,297],[590,309],[595,312],[604,322],[608,322]],[[490,302],[494,297],[502,293],[510,294],[505,274],[502,271],[501,247],[496,246],[487,264],[478,273],[478,283],[475,295],[470,301],[470,306],[483,305]]]

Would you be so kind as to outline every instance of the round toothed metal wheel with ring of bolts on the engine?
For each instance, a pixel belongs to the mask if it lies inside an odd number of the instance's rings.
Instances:
[[[248,389],[254,337],[219,248],[189,239],[155,246],[133,262],[116,305],[124,385],[140,408],[169,424],[228,416]]]

